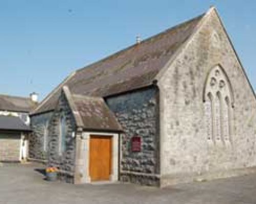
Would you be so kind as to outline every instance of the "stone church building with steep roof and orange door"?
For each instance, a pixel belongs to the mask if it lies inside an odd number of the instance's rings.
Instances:
[[[75,183],[167,186],[254,171],[256,100],[215,8],[71,73],[29,155]]]

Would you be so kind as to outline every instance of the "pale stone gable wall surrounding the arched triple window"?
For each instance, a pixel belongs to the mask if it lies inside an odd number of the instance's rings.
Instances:
[[[203,90],[207,75],[220,65],[234,96],[231,140],[207,137]],[[232,175],[256,165],[256,101],[214,10],[159,82],[161,185]],[[214,93],[216,94],[216,93]],[[218,139],[218,138],[217,138]]]

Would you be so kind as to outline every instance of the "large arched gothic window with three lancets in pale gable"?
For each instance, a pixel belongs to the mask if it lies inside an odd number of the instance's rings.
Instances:
[[[208,73],[203,90],[207,140],[232,142],[233,93],[224,69],[217,65]]]

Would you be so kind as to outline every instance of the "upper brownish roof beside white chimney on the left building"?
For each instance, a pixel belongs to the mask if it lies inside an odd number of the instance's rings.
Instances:
[[[10,95],[0,95],[0,110],[15,112],[30,112],[37,103],[29,97],[19,97]]]

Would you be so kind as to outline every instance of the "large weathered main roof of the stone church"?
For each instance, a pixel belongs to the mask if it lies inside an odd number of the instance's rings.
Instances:
[[[158,72],[195,31],[204,14],[176,25],[72,73],[32,112],[52,110],[61,87],[74,94],[105,97],[151,85]]]

